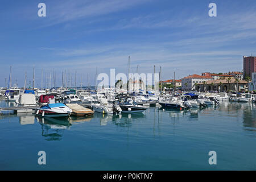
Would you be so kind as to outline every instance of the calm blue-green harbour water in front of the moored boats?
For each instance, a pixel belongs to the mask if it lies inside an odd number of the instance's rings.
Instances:
[[[10,106],[0,101],[0,107]],[[209,165],[209,151],[217,165]],[[38,164],[46,152],[46,165]],[[0,115],[1,170],[255,170],[256,105],[64,120]]]

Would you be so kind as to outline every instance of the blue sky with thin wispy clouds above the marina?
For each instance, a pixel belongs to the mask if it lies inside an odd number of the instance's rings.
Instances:
[[[46,3],[46,17],[38,4]],[[217,4],[217,17],[208,5]],[[56,72],[70,72],[77,85],[87,75],[94,85],[98,73],[156,72],[163,79],[202,72],[242,70],[242,56],[256,55],[255,1],[14,1],[0,4],[0,86],[13,67],[13,82],[32,80],[40,86]],[[48,81],[47,81],[48,82]],[[75,83],[75,81],[73,81]]]

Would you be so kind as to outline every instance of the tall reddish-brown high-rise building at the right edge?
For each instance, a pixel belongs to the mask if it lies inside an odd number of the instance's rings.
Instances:
[[[249,76],[251,73],[256,72],[256,57],[255,56],[243,56],[243,79]]]

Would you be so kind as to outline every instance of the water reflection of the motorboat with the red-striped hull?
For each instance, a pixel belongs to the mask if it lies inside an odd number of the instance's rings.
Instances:
[[[42,136],[46,140],[61,140],[64,130],[71,126],[68,118],[42,118],[35,116],[42,128]]]

